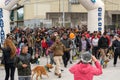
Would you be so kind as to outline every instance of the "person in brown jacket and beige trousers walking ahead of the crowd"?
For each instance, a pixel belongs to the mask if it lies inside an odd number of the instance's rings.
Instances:
[[[49,48],[49,51],[53,51],[54,54],[54,61],[56,63],[55,67],[55,75],[61,78],[61,63],[62,63],[62,56],[64,54],[64,51],[69,51],[70,48],[66,48],[62,42],[60,41],[60,38],[56,36],[55,42],[53,45]]]

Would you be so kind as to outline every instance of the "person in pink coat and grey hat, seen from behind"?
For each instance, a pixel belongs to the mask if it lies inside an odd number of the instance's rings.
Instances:
[[[91,65],[92,61],[96,67]],[[102,67],[94,56],[85,52],[81,54],[80,62],[72,66],[69,71],[74,74],[74,80],[93,80],[94,75],[102,74]]]

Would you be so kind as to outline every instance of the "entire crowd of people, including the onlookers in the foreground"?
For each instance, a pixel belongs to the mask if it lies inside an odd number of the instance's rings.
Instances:
[[[59,78],[62,76],[61,63],[63,62],[66,68],[78,58],[80,62],[70,68],[74,80],[92,80],[93,75],[102,74],[102,67],[106,68],[110,59],[114,58],[113,65],[116,66],[117,58],[120,57],[120,31],[90,33],[86,29],[66,27],[25,30],[15,28],[7,34],[0,48],[3,51],[5,80],[9,79],[9,75],[11,80],[14,80],[15,67],[18,69],[19,80],[30,80],[30,63],[39,64],[39,58],[48,56],[49,63],[55,65],[55,75]],[[92,61],[95,62],[96,68],[92,67]],[[88,77],[90,74],[91,77]]]

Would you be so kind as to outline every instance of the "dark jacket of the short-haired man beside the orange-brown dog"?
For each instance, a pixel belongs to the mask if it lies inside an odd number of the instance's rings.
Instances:
[[[16,58],[16,67],[18,69],[18,76],[30,76],[31,75],[31,65],[30,63],[36,62],[37,59],[32,59],[29,53],[21,53]],[[26,68],[22,67],[22,64],[27,64]]]

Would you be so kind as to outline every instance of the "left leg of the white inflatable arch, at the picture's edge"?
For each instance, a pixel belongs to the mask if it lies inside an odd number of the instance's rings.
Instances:
[[[10,33],[10,10],[19,0],[0,0],[0,43]]]

